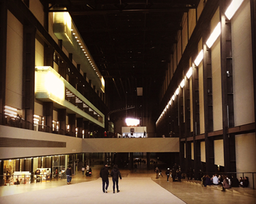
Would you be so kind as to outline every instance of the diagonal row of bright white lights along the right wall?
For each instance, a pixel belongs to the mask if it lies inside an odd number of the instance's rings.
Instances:
[[[229,5],[229,7],[227,8],[225,15],[227,16],[227,18],[230,20],[233,17],[233,14],[236,13],[236,11],[238,10],[238,8],[240,7],[240,5],[242,4],[244,0],[233,0],[231,2],[231,4]],[[216,25],[216,27],[214,28],[214,31],[212,31],[212,34],[210,35],[210,37],[208,38],[208,40],[206,41],[206,45],[208,46],[208,48],[211,48],[212,45],[214,44],[214,42],[216,41],[216,39],[218,38],[218,36],[221,35],[221,22],[218,22],[218,24]],[[197,55],[197,58],[195,59],[194,63],[195,65],[198,67],[198,65],[201,63],[201,61],[203,60],[203,50],[201,50],[199,52],[199,54]],[[177,87],[177,89],[175,90],[175,93],[173,94],[173,96],[171,97],[170,101],[167,103],[165,109],[162,111],[162,114],[159,116],[158,120],[156,121],[156,123],[158,123],[158,121],[160,120],[160,118],[162,118],[162,116],[165,114],[165,112],[167,112],[167,109],[169,108],[169,105],[171,105],[171,100],[174,101],[175,99],[175,95],[179,95],[180,92],[180,88],[183,88],[185,85],[185,80],[189,79],[190,76],[192,75],[192,67],[190,67],[188,69],[188,72],[186,73],[185,78],[182,80],[182,82],[180,83],[180,85]]]

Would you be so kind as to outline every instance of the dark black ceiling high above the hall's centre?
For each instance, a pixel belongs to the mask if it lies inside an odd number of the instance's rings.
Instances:
[[[156,109],[184,12],[199,0],[44,0],[66,7],[105,80],[111,109]],[[137,97],[143,87],[143,97]]]

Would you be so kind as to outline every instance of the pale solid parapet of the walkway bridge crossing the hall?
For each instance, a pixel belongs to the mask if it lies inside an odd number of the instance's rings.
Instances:
[[[82,152],[179,152],[179,138],[79,138],[0,125],[0,159]]]

